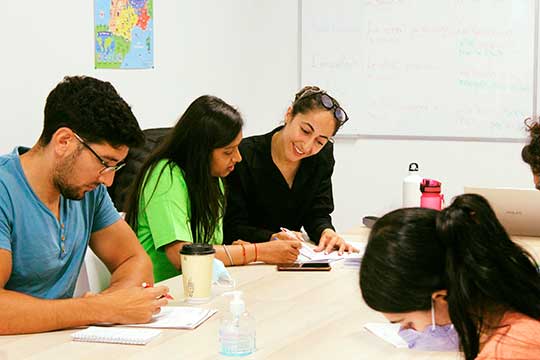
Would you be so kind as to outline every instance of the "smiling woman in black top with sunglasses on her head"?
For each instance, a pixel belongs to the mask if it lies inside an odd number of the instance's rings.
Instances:
[[[332,137],[347,120],[334,98],[309,86],[296,94],[284,126],[242,141],[243,161],[227,177],[225,243],[294,239],[303,226],[317,251],[353,250],[330,217]]]

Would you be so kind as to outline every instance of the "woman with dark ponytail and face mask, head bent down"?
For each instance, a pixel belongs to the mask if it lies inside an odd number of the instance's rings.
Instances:
[[[540,359],[538,265],[480,195],[380,218],[360,288],[370,308],[401,324],[410,348],[459,348],[466,360]]]

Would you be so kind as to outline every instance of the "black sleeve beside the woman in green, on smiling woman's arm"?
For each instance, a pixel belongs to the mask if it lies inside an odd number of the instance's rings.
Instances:
[[[226,178],[227,208],[223,219],[223,242],[232,244],[235,240],[265,242],[273,232],[249,225],[248,193],[243,184],[247,180],[248,169],[237,164],[236,169]]]

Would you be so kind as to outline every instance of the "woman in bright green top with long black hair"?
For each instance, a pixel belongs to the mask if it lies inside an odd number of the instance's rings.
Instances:
[[[299,241],[221,245],[225,189],[221,178],[242,160],[243,120],[214,96],[201,96],[146,159],[127,200],[126,220],[152,259],[156,281],[180,274],[185,243],[213,244],[225,265],[292,262]]]

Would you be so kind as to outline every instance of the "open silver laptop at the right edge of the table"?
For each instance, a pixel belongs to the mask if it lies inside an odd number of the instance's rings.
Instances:
[[[485,197],[508,234],[540,236],[540,191],[465,186],[465,193]]]

